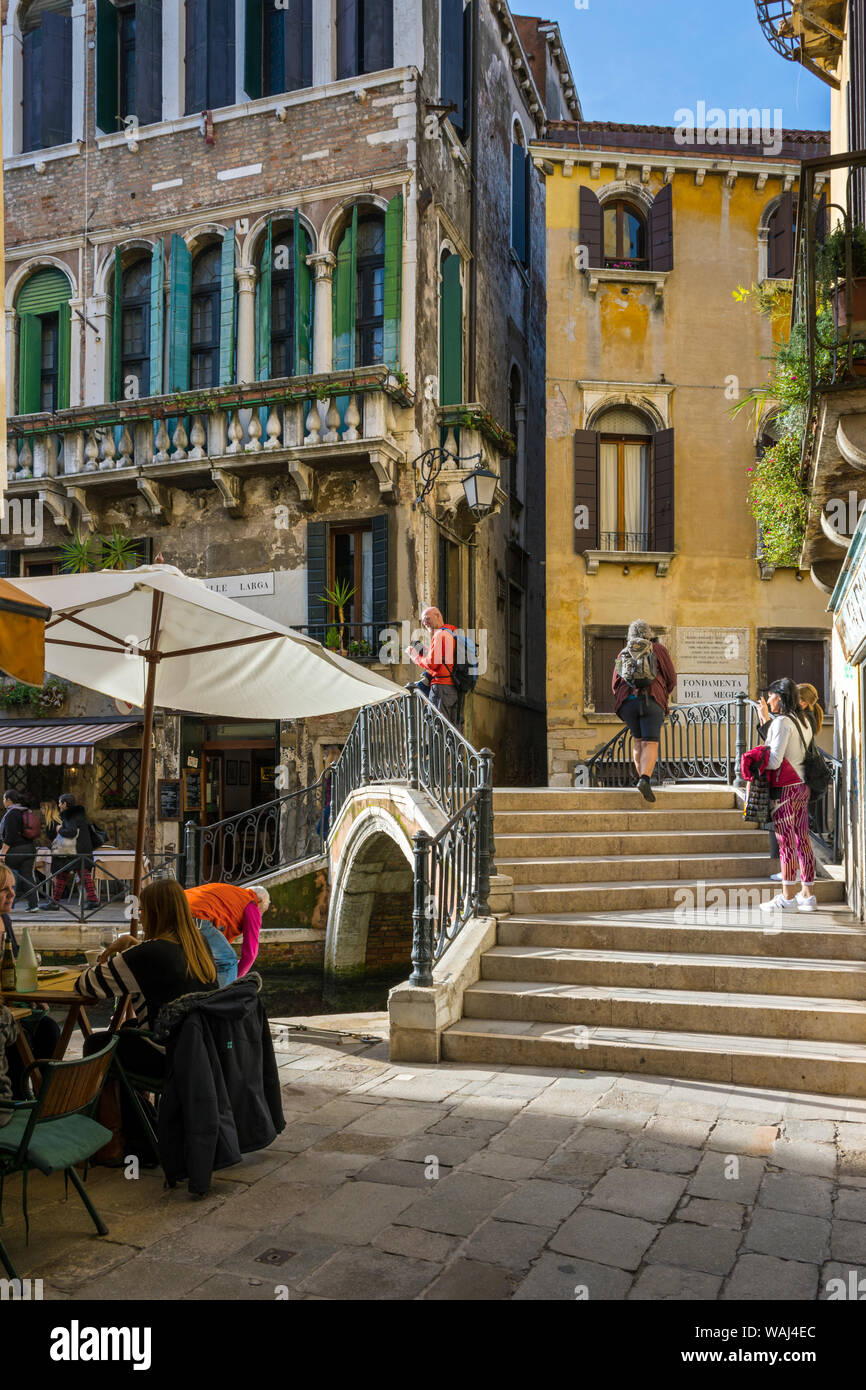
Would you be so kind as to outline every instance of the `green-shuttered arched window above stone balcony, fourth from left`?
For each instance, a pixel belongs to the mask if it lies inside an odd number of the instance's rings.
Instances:
[[[256,289],[257,377],[300,377],[311,370],[310,238],[293,220],[272,218],[259,259]]]

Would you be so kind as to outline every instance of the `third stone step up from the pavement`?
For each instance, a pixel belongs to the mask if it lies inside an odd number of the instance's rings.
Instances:
[[[803,962],[781,955],[755,958],[674,951],[657,955],[652,951],[498,945],[481,958],[481,979],[866,999],[866,960]]]

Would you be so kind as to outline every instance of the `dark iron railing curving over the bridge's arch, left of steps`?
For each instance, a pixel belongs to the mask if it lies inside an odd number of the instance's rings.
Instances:
[[[478,752],[417,691],[359,710],[331,769],[331,824],[353,791],[405,783],[425,791],[448,823],[414,835],[413,973],[432,984],[432,965],[473,916],[489,913],[495,873],[493,755]]]

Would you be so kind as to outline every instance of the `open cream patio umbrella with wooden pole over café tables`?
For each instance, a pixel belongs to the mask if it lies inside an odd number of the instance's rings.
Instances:
[[[24,580],[21,588],[53,609],[46,645],[54,676],[145,708],[136,898],[156,705],[192,714],[295,720],[357,709],[402,691],[171,564]]]

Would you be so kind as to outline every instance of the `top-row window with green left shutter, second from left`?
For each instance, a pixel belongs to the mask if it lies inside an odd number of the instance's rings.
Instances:
[[[163,118],[163,0],[97,0],[96,124],[120,131]]]

